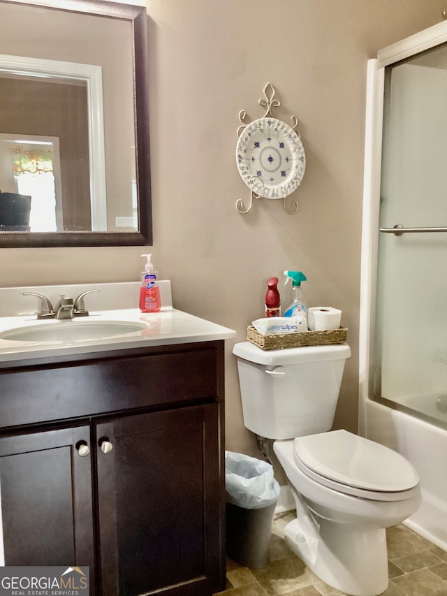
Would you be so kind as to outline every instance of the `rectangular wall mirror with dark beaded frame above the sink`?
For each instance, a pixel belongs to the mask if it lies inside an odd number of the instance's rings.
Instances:
[[[0,245],[146,244],[145,9],[65,6],[0,0]]]

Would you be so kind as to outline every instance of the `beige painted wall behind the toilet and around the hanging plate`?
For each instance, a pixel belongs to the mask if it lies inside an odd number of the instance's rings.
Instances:
[[[176,307],[237,330],[263,314],[265,279],[300,269],[309,305],[343,310],[353,356],[336,426],[356,430],[362,169],[367,59],[436,24],[444,0],[141,0],[149,14],[153,261]],[[293,198],[235,210],[249,191],[235,166],[238,114],[295,114],[307,171]],[[138,279],[141,247],[1,249],[1,284]],[[284,302],[288,292],[283,293]],[[138,296],[135,296],[135,306]],[[226,446],[255,453],[244,430],[228,342]]]

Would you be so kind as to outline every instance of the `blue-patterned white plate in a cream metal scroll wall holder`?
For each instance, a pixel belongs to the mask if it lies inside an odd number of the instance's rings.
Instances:
[[[247,112],[241,110],[242,123],[237,129],[236,164],[240,176],[250,189],[250,203],[244,207],[236,202],[240,213],[248,213],[254,198],[281,198],[284,209],[291,215],[298,211],[298,202],[287,205],[288,196],[301,184],[305,174],[306,156],[296,128],[298,118],[292,116],[292,126],[272,116],[272,108],[281,105],[274,99],[275,90],[270,82],[263,89],[260,106],[267,108],[263,118],[250,124],[244,122]]]

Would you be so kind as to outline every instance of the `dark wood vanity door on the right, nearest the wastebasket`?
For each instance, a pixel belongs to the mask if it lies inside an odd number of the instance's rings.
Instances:
[[[103,596],[219,588],[218,416],[212,404],[97,426]]]

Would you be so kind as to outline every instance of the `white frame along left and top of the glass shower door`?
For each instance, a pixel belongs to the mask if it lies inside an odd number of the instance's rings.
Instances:
[[[420,31],[379,50],[367,63],[367,98],[365,117],[365,161],[363,175],[363,216],[360,274],[359,329],[359,434],[367,435],[366,407],[371,400],[377,263],[379,247],[379,209],[383,131],[383,92],[385,67],[430,50],[447,41],[447,21]]]

